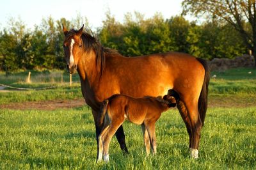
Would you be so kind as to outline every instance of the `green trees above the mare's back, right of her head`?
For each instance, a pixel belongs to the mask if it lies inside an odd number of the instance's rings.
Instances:
[[[124,56],[173,50],[206,59],[234,58],[247,50],[237,31],[219,22],[196,25],[181,16],[164,20],[156,13],[154,17],[144,19],[140,13],[127,13],[124,24],[121,24],[108,13],[103,23],[98,29],[102,44]]]

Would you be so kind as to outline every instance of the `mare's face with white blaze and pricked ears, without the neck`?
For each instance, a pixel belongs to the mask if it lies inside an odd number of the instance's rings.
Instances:
[[[64,55],[67,62],[67,69],[69,73],[76,72],[77,63],[81,58],[83,40],[81,38],[83,34],[84,25],[78,30],[70,30],[63,26],[63,33],[65,35],[65,40],[63,42]]]

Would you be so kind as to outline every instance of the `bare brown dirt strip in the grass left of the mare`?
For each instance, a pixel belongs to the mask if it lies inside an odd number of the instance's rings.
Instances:
[[[40,102],[23,102],[23,103],[11,103],[11,104],[1,104],[0,109],[38,109],[38,110],[49,110],[59,108],[74,108],[81,107],[85,105],[84,99],[77,100],[48,100]]]

